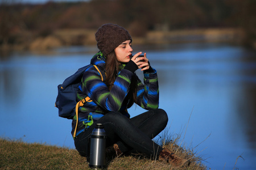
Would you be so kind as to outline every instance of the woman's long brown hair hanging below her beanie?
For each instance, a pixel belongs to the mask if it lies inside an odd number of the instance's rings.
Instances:
[[[117,78],[117,74],[120,71],[119,65],[121,65],[121,63],[117,60],[113,50],[108,54],[108,56],[106,56],[106,79],[104,82],[109,87],[109,90],[112,89],[115,79]],[[131,79],[130,90],[127,97],[129,99],[127,108],[130,108],[137,100],[137,81],[135,75]]]

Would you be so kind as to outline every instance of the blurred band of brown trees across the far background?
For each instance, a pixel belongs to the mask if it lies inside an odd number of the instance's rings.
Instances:
[[[92,0],[88,2],[0,3],[0,44],[18,41],[21,32],[47,36],[56,29],[97,29],[116,23],[133,36],[147,31],[197,28],[243,28],[255,41],[254,0]]]

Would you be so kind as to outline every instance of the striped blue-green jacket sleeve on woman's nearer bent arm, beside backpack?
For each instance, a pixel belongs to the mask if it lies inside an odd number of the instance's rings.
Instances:
[[[129,92],[132,76],[131,71],[122,69],[115,79],[114,86],[109,91],[96,69],[86,70],[82,77],[82,91],[101,108],[117,112]]]

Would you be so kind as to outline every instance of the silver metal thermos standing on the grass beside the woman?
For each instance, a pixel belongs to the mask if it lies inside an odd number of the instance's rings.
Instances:
[[[102,124],[97,124],[90,135],[89,167],[105,167],[106,133]]]

